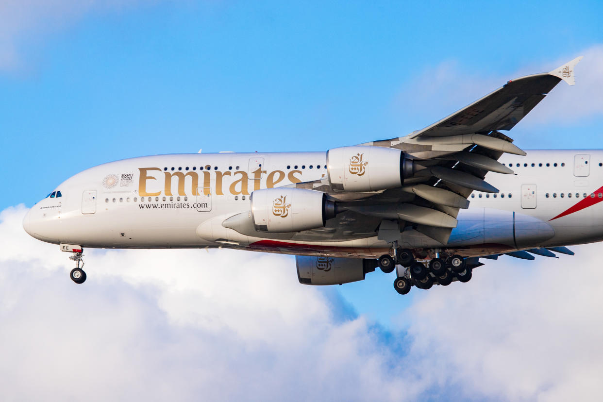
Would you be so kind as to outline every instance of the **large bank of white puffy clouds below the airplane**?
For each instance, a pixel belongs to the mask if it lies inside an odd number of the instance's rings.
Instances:
[[[88,250],[88,280],[78,286],[68,254],[22,231],[24,212],[0,213],[2,400],[603,392],[603,271],[590,263],[598,247],[534,263],[505,257],[470,283],[413,290],[398,326],[384,332],[342,314],[336,288],[299,284],[288,256]]]

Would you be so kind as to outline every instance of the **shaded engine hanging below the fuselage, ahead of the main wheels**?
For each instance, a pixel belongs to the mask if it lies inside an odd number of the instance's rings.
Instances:
[[[377,260],[295,256],[297,278],[303,284],[343,284],[364,280]]]

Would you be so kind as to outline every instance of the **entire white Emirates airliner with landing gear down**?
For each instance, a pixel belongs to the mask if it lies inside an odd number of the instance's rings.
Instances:
[[[581,57],[404,137],[327,152],[153,155],[95,166],[25,216],[83,283],[84,248],[294,254],[300,283],[396,271],[394,289],[467,282],[480,258],[603,240],[603,150],[525,152],[511,130]]]

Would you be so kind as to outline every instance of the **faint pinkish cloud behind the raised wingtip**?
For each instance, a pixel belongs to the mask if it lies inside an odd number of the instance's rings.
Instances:
[[[517,127],[571,125],[584,118],[601,117],[603,45],[582,49],[556,61],[532,63],[532,66],[525,66],[520,71],[499,77],[484,76],[479,68],[466,66],[460,61],[444,61],[435,68],[426,69],[412,80],[397,96],[395,107],[407,110],[410,116],[420,116],[417,121],[422,126],[413,129],[418,130],[481,98],[508,80],[551,71],[578,55],[584,55],[584,58],[575,68],[576,85],[559,83]]]

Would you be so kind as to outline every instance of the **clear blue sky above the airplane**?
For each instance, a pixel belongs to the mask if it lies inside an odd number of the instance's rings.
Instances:
[[[16,60],[0,70],[0,155],[21,174],[8,175],[2,208],[125,157],[314,151],[403,135],[520,69],[552,69],[603,40],[595,1],[92,4],[8,33]],[[425,77],[445,63],[445,80]],[[446,92],[452,72],[484,86]],[[578,127],[601,127],[601,115]],[[575,143],[563,140],[575,124],[545,128],[548,143],[515,137],[525,148]],[[584,137],[575,146],[601,146]]]

